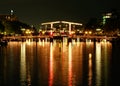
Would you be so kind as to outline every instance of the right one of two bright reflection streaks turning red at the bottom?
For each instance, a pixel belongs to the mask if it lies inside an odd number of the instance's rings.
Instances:
[[[72,45],[69,43],[69,56],[68,56],[68,85],[72,86]]]

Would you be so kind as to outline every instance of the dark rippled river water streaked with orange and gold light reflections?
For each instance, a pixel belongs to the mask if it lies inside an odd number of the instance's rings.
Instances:
[[[119,58],[110,42],[9,42],[0,47],[0,86],[120,86]]]

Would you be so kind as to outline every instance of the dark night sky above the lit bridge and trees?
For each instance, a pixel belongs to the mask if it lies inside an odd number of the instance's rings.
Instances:
[[[66,20],[85,23],[111,9],[120,10],[119,0],[0,0],[0,14],[10,10],[28,24]]]

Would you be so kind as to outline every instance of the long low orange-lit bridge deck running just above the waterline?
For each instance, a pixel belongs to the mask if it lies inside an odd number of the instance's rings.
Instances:
[[[54,36],[48,36],[48,35],[44,35],[44,36],[4,36],[2,38],[2,40],[19,40],[19,41],[22,41],[22,40],[26,40],[26,39],[56,39],[54,38]],[[57,37],[57,39],[61,39],[61,38],[64,38],[64,36],[59,36]],[[69,40],[69,39],[82,39],[82,40],[85,40],[85,39],[91,39],[91,40],[108,40],[108,41],[112,41],[112,39],[115,39],[117,37],[107,37],[107,36],[87,36],[87,35],[83,35],[83,36],[77,36],[77,35],[74,35],[74,36],[66,36],[66,38]]]

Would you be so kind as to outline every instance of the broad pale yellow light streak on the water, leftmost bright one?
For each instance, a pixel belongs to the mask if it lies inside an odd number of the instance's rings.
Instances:
[[[26,85],[26,50],[25,42],[21,43],[21,58],[20,58],[20,81],[21,86]]]

